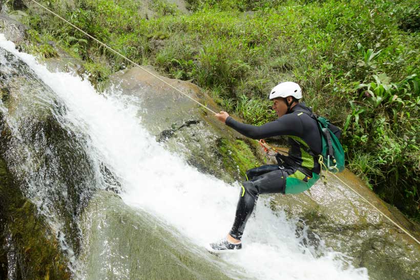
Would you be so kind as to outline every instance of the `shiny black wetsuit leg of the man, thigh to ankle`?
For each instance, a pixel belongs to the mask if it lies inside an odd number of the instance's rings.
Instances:
[[[283,172],[283,169],[270,171],[255,177],[254,179],[243,182],[239,201],[236,207],[234,225],[232,226],[232,230],[230,230],[229,234],[232,235],[233,238],[241,240],[246,222],[254,210],[259,194],[276,192],[284,193],[286,188],[285,182],[285,173]]]

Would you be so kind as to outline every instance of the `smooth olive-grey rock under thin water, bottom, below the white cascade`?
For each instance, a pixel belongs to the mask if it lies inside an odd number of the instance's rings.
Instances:
[[[230,279],[219,257],[110,192],[96,193],[81,227],[86,279]]]

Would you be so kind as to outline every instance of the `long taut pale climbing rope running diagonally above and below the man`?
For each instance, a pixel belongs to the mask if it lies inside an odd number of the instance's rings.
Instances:
[[[98,42],[100,45],[102,45],[103,47],[106,47],[107,49],[109,49],[110,51],[112,51],[113,53],[121,56],[122,58],[126,59],[127,61],[133,63],[135,66],[139,67],[140,69],[142,69],[143,71],[149,73],[150,75],[152,75],[153,77],[155,77],[156,79],[160,80],[161,82],[169,85],[169,87],[171,87],[172,89],[176,90],[177,92],[181,93],[182,95],[190,98],[191,100],[193,100],[194,102],[196,102],[197,104],[199,104],[200,106],[204,107],[204,109],[216,114],[216,112],[214,112],[213,110],[209,109],[207,106],[203,105],[202,103],[198,102],[197,100],[195,100],[194,98],[192,98],[191,96],[185,94],[184,92],[182,92],[181,90],[177,89],[176,87],[174,87],[172,84],[164,81],[163,79],[161,79],[160,77],[156,76],[155,74],[153,74],[152,72],[144,69],[143,67],[141,67],[139,64],[137,64],[136,62],[134,62],[133,60],[123,56],[122,54],[120,54],[119,52],[115,51],[114,49],[112,49],[111,47],[108,47],[107,45],[103,44],[103,42],[99,41],[98,39],[96,39],[95,37],[89,35],[88,33],[86,33],[85,31],[81,30],[80,28],[78,28],[77,26],[73,25],[72,23],[70,23],[68,20],[66,20],[65,18],[62,18],[61,16],[59,16],[58,14],[54,13],[53,11],[51,11],[50,9],[48,9],[47,7],[39,4],[38,2],[31,0],[33,3],[37,4],[38,6],[40,6],[41,8],[44,8],[45,10],[49,11],[50,13],[52,13],[53,15],[55,15],[56,17],[60,18],[61,20],[65,21],[66,23],[68,23],[69,25],[71,25],[72,27],[74,27],[75,29],[77,29],[78,31],[82,32],[83,34],[85,34],[86,36],[92,38],[94,41]],[[270,147],[268,144],[261,141],[256,140],[257,142],[259,142],[261,144],[261,146],[263,146],[264,149],[268,147]],[[272,147],[270,147],[272,148]],[[274,148],[272,148],[274,149]],[[276,152],[277,150],[274,149]],[[414,238],[414,236],[412,236],[407,230],[405,230],[403,227],[401,227],[400,225],[396,224],[394,221],[392,221],[391,218],[389,218],[388,216],[386,216],[386,214],[384,214],[381,210],[379,210],[378,208],[376,208],[376,206],[374,206],[372,203],[370,203],[367,199],[365,199],[364,197],[362,197],[357,191],[355,191],[352,187],[350,187],[348,184],[346,184],[343,180],[341,180],[337,175],[333,174],[332,175],[335,176],[335,178],[339,179],[344,185],[346,185],[349,189],[351,189],[354,193],[356,193],[356,195],[358,195],[362,200],[364,200],[365,202],[367,202],[370,206],[372,206],[374,209],[376,209],[376,211],[378,211],[379,213],[382,214],[382,216],[384,216],[386,219],[388,219],[393,225],[395,225],[397,228],[401,229],[402,231],[404,231],[408,236],[410,236],[415,242],[417,242],[420,245],[420,242]]]

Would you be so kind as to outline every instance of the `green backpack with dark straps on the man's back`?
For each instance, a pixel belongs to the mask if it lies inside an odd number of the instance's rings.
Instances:
[[[331,124],[326,118],[317,116],[306,110],[296,110],[309,115],[316,120],[321,132],[322,152],[319,155],[321,168],[330,173],[339,173],[344,170],[344,150],[340,143],[341,130]]]

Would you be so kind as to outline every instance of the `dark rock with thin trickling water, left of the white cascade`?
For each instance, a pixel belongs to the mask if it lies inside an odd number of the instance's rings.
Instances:
[[[78,214],[93,181],[92,163],[83,152],[86,140],[61,126],[65,107],[23,61],[5,50],[0,56],[5,59],[0,62],[0,88],[7,108],[3,131],[10,132],[3,146],[5,157],[24,190],[31,191],[28,183],[49,185],[58,200],[70,202],[65,203],[71,205],[70,212]]]

